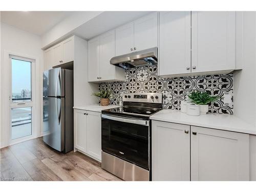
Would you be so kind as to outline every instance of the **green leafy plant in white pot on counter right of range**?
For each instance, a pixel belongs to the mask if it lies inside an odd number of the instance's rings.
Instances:
[[[198,104],[200,106],[200,114],[206,114],[209,110],[209,102],[215,102],[220,97],[211,96],[208,92],[192,91],[188,93],[188,99],[191,103]]]

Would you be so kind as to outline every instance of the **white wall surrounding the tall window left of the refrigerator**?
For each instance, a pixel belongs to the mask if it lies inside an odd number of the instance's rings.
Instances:
[[[40,109],[42,106],[42,71],[44,70],[44,54],[41,50],[41,38],[38,35],[28,33],[7,24],[1,23],[1,147],[9,144],[9,90],[8,74],[9,66],[8,58],[5,53],[11,52],[22,56],[36,59],[36,115],[40,117]],[[40,102],[39,102],[40,101]],[[37,118],[36,129],[37,136],[40,135],[40,118]]]

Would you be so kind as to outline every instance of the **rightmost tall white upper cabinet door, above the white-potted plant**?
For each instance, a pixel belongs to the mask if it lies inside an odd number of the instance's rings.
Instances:
[[[235,69],[235,12],[191,12],[191,72]]]

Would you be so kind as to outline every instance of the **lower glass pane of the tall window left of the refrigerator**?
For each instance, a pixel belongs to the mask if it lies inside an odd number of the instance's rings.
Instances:
[[[12,139],[32,134],[31,107],[12,109]]]

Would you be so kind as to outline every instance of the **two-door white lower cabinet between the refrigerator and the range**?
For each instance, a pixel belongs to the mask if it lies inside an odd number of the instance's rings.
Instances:
[[[74,110],[74,150],[101,161],[101,113]]]

